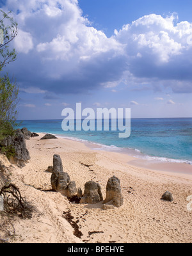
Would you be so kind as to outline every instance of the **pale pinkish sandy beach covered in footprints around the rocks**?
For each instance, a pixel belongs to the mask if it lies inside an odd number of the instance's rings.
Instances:
[[[192,195],[192,166],[189,164],[150,164],[127,154],[93,150],[84,143],[63,138],[26,140],[31,159],[20,169],[12,168],[12,183],[22,196],[35,205],[31,220],[14,222],[11,243],[191,243],[192,211],[187,209]],[[102,209],[102,202],[73,204],[51,189],[54,154],[59,154],[63,170],[76,181],[77,188],[93,180],[99,182],[106,196],[108,179],[120,179],[124,204],[120,208]],[[138,164],[137,164],[138,163]],[[172,192],[173,202],[161,200]],[[64,218],[70,212],[78,221],[81,239]]]

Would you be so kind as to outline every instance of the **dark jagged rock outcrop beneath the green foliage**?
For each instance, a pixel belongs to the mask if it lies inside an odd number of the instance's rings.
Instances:
[[[29,151],[26,148],[24,134],[17,129],[14,136],[8,136],[0,142],[1,147],[12,147],[15,149],[15,156],[10,157],[10,163],[17,164],[20,168],[30,159]]]

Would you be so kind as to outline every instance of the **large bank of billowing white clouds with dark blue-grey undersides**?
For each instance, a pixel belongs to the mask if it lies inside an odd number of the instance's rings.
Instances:
[[[145,15],[108,38],[83,17],[77,0],[7,0],[4,10],[19,24],[14,73],[24,88],[86,93],[124,83],[192,92],[192,24],[175,13]]]

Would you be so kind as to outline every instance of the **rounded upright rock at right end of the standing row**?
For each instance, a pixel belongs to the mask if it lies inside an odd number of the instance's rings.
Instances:
[[[106,187],[106,199],[104,200],[104,204],[110,201],[111,204],[115,205],[116,207],[122,206],[124,202],[120,187],[120,180],[115,176],[108,180]]]

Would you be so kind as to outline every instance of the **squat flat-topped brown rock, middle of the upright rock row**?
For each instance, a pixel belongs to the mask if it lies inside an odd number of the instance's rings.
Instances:
[[[86,182],[80,204],[97,204],[102,200],[100,185],[94,181]]]

